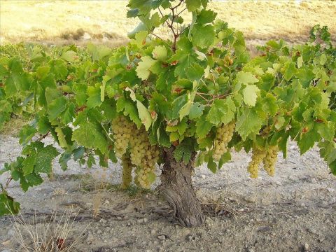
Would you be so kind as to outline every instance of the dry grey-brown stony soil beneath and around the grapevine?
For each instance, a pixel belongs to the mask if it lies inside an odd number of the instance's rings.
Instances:
[[[17,138],[3,135],[0,143],[1,169],[20,146]],[[0,251],[20,251],[20,233],[29,246],[26,230],[47,232],[43,223],[52,215],[57,216],[52,230],[64,225],[64,212],[73,223],[69,235],[63,234],[65,243],[76,240],[71,251],[336,251],[336,178],[318,150],[300,156],[290,143],[287,160],[279,154],[274,178],[261,172],[249,179],[250,159],[233,153],[218,174],[195,169],[193,183],[207,214],[200,228],[176,223],[155,190],[113,186],[120,183],[119,164],[87,169],[71,162],[62,172],[55,162],[55,175],[41,186],[27,193],[18,184],[10,186],[10,194],[22,203],[19,217],[25,225],[18,218],[0,218]],[[5,179],[6,174],[0,176],[1,182]],[[108,183],[102,185],[104,179]]]

